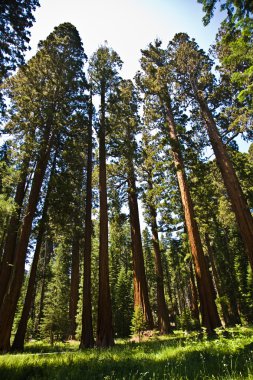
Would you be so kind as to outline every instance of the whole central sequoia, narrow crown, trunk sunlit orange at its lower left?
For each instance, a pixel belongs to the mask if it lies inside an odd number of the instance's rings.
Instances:
[[[130,80],[121,81],[118,92],[112,99],[111,123],[114,130],[116,156],[120,162],[121,175],[128,184],[128,206],[131,227],[133,272],[134,272],[134,307],[141,308],[149,328],[153,327],[153,316],[150,308],[147,280],[144,268],[143,247],[136,186],[137,144],[135,135],[138,132],[138,96]],[[116,158],[116,159],[117,159]]]

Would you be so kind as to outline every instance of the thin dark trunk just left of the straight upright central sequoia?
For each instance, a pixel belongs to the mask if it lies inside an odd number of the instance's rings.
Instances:
[[[92,294],[91,294],[91,237],[92,237],[92,95],[89,104],[88,126],[88,152],[87,152],[87,179],[86,179],[86,202],[85,202],[85,235],[83,252],[83,312],[82,334],[80,348],[94,346],[92,324]]]

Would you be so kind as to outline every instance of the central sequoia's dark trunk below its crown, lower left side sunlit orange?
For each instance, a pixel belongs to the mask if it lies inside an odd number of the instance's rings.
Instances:
[[[128,169],[128,202],[130,211],[134,272],[134,306],[142,308],[148,328],[152,329],[154,327],[154,322],[149,302],[148,286],[144,267],[134,167],[130,160]]]

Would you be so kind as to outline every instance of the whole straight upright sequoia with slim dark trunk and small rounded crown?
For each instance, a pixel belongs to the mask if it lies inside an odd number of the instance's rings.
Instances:
[[[118,82],[118,69],[122,62],[118,54],[101,46],[91,57],[89,76],[93,94],[100,97],[99,115],[99,295],[97,320],[97,345],[108,347],[114,344],[112,327],[112,306],[109,284],[108,262],[108,204],[107,204],[107,175],[106,175],[106,109],[110,91]]]

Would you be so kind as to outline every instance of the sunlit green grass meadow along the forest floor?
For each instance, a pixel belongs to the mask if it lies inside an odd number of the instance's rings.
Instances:
[[[78,344],[26,345],[0,356],[1,380],[253,379],[253,328],[218,332],[213,339],[185,334],[147,342],[118,341],[110,349],[78,351]]]

